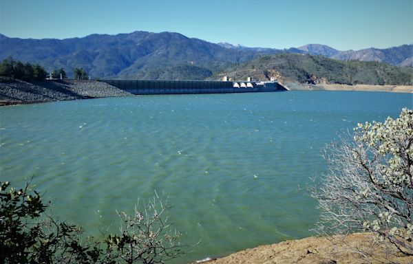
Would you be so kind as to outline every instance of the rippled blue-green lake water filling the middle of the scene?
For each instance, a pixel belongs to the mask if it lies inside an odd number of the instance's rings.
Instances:
[[[412,94],[288,91],[136,96],[0,108],[0,180],[36,189],[91,234],[164,192],[190,251],[178,263],[310,236],[320,148]],[[199,242],[199,243],[198,243]],[[198,244],[197,244],[198,243]]]

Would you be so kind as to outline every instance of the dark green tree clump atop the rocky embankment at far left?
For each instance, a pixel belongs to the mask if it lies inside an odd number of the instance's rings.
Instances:
[[[0,63],[0,76],[9,80],[44,80],[47,72],[41,65],[14,61],[12,57]]]

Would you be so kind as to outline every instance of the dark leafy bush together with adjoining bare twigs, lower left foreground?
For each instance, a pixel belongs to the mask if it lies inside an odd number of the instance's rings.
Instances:
[[[76,225],[44,217],[50,203],[39,192],[0,182],[0,263],[164,263],[183,254],[171,232],[168,208],[156,196],[133,217],[125,212],[120,234],[83,238]]]

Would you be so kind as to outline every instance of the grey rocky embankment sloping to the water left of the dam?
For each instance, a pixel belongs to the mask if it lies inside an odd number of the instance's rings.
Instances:
[[[127,91],[96,80],[45,80],[0,83],[0,105],[132,96]]]

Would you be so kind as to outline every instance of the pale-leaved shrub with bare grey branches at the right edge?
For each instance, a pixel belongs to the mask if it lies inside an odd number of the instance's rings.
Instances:
[[[324,157],[330,168],[313,191],[317,230],[374,232],[413,255],[413,111],[358,124],[352,141],[333,143]]]

